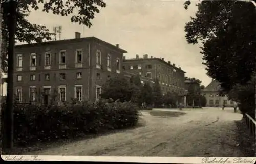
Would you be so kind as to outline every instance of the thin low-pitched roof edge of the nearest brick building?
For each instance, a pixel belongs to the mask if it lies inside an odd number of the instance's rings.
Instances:
[[[116,50],[122,52],[122,53],[127,53],[127,51],[113,45],[110,44],[108,42],[105,42],[99,38],[96,37],[84,37],[84,38],[74,38],[74,39],[65,39],[65,40],[55,40],[55,41],[47,41],[47,42],[41,42],[41,43],[31,43],[31,44],[20,44],[20,45],[16,45],[15,48],[25,48],[25,47],[33,47],[33,46],[39,46],[39,45],[49,45],[49,44],[60,44],[60,43],[70,43],[70,42],[78,42],[78,41],[99,41],[105,45],[108,45],[112,48],[115,48]]]

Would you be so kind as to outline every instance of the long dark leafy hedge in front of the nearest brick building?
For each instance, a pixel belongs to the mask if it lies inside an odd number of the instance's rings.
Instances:
[[[136,125],[138,118],[133,103],[103,99],[65,106],[15,105],[14,143],[21,146],[127,128]]]

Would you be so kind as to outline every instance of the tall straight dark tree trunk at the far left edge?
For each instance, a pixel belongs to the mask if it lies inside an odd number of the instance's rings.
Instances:
[[[9,8],[9,38],[8,38],[8,79],[7,79],[7,98],[6,98],[6,139],[7,147],[13,147],[13,57],[14,57],[14,45],[15,45],[15,32],[16,32],[16,8],[17,2],[15,0],[10,1]]]

